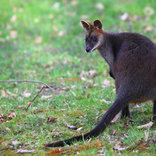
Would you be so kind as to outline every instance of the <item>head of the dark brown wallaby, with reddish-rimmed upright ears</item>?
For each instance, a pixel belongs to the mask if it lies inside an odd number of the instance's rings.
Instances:
[[[83,28],[86,30],[86,37],[85,37],[85,49],[86,52],[90,53],[97,48],[103,42],[103,29],[102,23],[99,20],[95,20],[93,24],[81,21]]]

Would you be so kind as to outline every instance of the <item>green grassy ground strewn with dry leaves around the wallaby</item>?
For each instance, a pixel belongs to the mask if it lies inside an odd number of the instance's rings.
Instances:
[[[108,66],[97,52],[84,52],[80,20],[100,19],[106,31],[138,32],[156,43],[155,10],[154,0],[1,0],[0,80],[39,80],[53,86],[25,111],[41,84],[0,84],[2,155],[15,154],[19,149],[36,150],[36,155],[60,153],[42,147],[89,131],[114,101],[114,81]],[[155,155],[155,127],[137,129],[150,121],[152,103],[137,106],[131,106],[140,111],[133,116],[133,124],[117,121],[90,142],[61,152]]]

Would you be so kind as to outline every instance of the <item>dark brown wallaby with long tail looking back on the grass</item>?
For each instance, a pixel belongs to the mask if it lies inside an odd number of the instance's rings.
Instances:
[[[156,119],[156,45],[137,33],[108,33],[102,23],[81,21],[86,30],[86,51],[98,50],[115,79],[116,99],[90,132],[67,140],[47,144],[46,147],[70,145],[74,141],[96,137],[122,111],[122,117],[130,116],[129,103],[153,101],[153,119]]]

